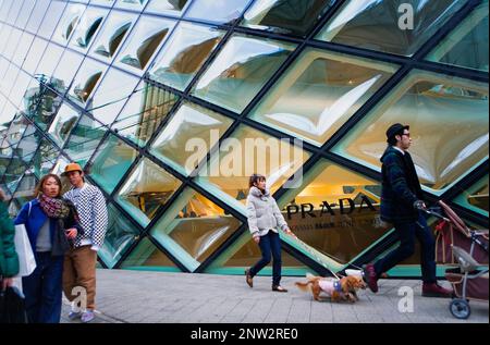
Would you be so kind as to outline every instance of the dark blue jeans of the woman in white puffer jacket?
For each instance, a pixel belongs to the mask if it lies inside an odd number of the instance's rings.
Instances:
[[[250,275],[256,275],[269,264],[272,254],[272,258],[274,259],[272,263],[272,285],[279,285],[281,282],[281,239],[279,234],[269,231],[267,235],[260,237],[259,247],[262,258],[250,268]]]

